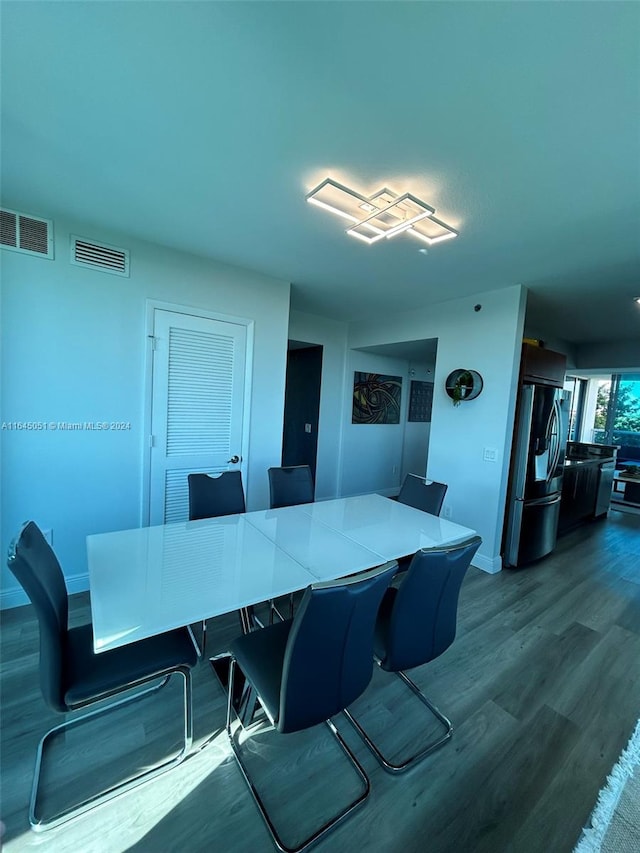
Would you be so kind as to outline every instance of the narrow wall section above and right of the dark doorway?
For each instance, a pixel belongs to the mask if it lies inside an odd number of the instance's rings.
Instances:
[[[289,338],[321,344],[322,384],[316,460],[316,499],[340,494],[347,324],[301,311],[289,315]],[[351,410],[349,410],[349,413]]]

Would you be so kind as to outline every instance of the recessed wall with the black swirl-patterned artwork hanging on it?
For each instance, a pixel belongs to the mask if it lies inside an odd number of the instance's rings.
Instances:
[[[400,423],[351,423],[353,374],[382,373],[402,378]],[[360,495],[367,492],[397,494],[402,467],[402,443],[407,420],[409,363],[368,352],[351,351],[347,356],[344,389],[345,419],[342,433],[342,492]]]

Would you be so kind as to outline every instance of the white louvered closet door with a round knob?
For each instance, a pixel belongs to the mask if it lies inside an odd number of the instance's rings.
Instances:
[[[246,327],[154,312],[150,523],[189,517],[187,475],[241,470]],[[246,477],[243,476],[243,480]]]

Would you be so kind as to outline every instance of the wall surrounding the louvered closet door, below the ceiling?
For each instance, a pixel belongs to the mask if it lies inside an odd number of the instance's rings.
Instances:
[[[54,261],[0,252],[1,419],[128,421],[131,430],[3,430],[2,552],[27,519],[52,528],[76,591],[87,588],[87,534],[141,520],[146,300],[255,320],[246,485],[256,509],[268,506],[266,470],[281,458],[290,286],[86,224],[54,227]],[[131,277],[71,265],[70,233],[130,249]],[[4,560],[2,589],[4,606],[26,600]]]

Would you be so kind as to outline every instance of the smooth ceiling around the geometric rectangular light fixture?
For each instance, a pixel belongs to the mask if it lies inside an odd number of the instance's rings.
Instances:
[[[523,284],[549,335],[640,338],[640,4],[0,8],[5,204],[286,279],[330,317]],[[460,236],[354,240],[305,202],[328,175]]]

